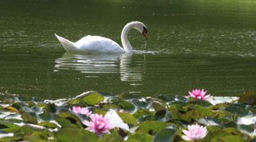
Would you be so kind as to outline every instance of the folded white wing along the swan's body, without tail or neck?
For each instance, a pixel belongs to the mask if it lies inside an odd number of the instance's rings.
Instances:
[[[111,39],[100,36],[86,36],[75,43],[84,52],[125,52],[122,47]]]

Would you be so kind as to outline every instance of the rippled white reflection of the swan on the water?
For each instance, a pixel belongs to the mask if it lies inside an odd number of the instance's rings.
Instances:
[[[121,81],[141,81],[144,77],[146,63],[132,62],[133,55],[126,54],[92,54],[78,55],[66,52],[55,60],[54,72],[77,70],[87,77],[99,77],[100,74],[120,75]]]

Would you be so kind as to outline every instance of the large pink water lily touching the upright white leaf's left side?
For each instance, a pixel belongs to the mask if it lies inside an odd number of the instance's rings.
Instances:
[[[110,133],[110,129],[114,128],[110,124],[110,120],[104,118],[102,115],[90,115],[91,121],[84,120],[84,125],[88,126],[87,130],[96,133],[97,136],[102,137],[103,133]]]

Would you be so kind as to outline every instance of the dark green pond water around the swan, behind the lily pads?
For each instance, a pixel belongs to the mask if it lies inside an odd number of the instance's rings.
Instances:
[[[256,90],[256,1],[0,0],[0,93],[67,98],[87,90],[211,95]],[[133,30],[133,55],[65,53],[54,33],[76,41],[100,35],[120,43]]]

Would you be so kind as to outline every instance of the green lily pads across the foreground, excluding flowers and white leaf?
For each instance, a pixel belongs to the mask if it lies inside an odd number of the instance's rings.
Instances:
[[[193,123],[207,126],[208,134],[202,141],[252,141],[255,131],[253,123],[237,123],[238,118],[256,112],[255,106],[241,103],[211,105],[204,100],[164,95],[132,100],[120,95],[103,102],[104,97],[97,92],[56,101],[8,98],[13,101],[2,101],[0,106],[0,129],[6,133],[0,141],[124,141],[125,136],[128,141],[182,141],[182,129]],[[101,114],[110,108],[120,110],[118,115],[131,132],[114,128],[98,138],[85,129],[82,122],[87,117],[69,110],[75,105]]]

